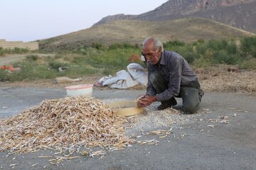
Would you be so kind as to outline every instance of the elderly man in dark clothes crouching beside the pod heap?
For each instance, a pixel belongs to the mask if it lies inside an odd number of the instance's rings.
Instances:
[[[183,100],[184,113],[198,111],[203,91],[188,62],[176,52],[164,51],[162,42],[156,38],[144,40],[142,55],[148,62],[148,86],[137,105],[146,107],[161,101],[157,109],[163,110],[175,106],[177,97]]]

